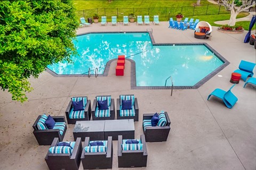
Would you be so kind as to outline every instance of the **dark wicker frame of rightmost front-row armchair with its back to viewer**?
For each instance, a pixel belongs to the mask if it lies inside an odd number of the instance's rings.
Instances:
[[[118,167],[146,167],[147,166],[147,145],[145,135],[140,135],[142,150],[122,150],[123,136],[118,135]]]

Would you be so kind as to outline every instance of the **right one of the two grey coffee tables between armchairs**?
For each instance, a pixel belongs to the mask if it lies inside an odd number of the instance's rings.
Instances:
[[[123,139],[134,139],[134,131],[133,119],[105,120],[105,140],[108,136],[112,136],[112,140],[118,140],[118,135],[123,135]]]

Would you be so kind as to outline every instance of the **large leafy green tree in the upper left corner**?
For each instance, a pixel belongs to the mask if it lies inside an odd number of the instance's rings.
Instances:
[[[35,78],[48,64],[76,53],[79,23],[73,1],[0,2],[0,86],[12,100],[26,101]]]

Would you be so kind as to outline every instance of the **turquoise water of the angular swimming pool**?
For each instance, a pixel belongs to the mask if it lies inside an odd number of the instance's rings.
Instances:
[[[205,45],[153,45],[148,33],[107,33],[77,36],[73,63],[48,66],[58,75],[103,74],[106,63],[118,55],[135,61],[137,86],[193,86],[223,64]],[[167,81],[167,86],[171,85]]]

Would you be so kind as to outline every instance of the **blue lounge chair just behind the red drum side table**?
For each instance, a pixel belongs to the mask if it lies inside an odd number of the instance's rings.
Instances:
[[[241,60],[239,64],[239,69],[235,70],[234,72],[237,72],[241,74],[241,78],[246,81],[247,77],[253,76],[253,69],[255,67],[255,63]]]

